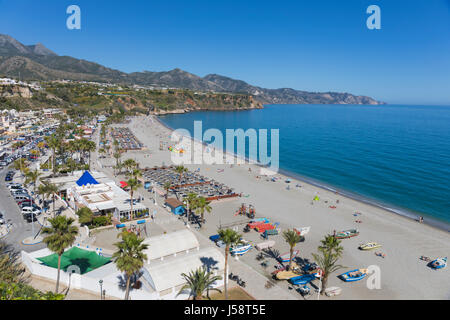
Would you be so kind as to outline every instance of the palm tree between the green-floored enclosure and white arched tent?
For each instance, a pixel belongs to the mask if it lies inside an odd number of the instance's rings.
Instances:
[[[113,254],[113,259],[116,263],[117,269],[125,272],[127,278],[125,300],[129,299],[130,294],[130,281],[131,277],[139,272],[144,266],[144,261],[147,259],[147,255],[144,253],[147,250],[148,245],[142,243],[144,239],[138,238],[135,233],[122,232],[120,234],[122,241],[115,243],[117,251]]]

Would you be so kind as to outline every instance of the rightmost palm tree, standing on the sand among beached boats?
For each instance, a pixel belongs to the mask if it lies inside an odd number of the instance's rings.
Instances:
[[[340,245],[340,241],[332,241],[330,240],[330,237],[334,238],[334,236],[327,235],[324,240],[321,241],[322,245],[318,247],[319,254],[312,254],[314,261],[316,261],[319,268],[322,269],[321,294],[323,294],[326,289],[330,274],[344,268],[344,266],[337,264],[339,258],[342,256],[344,248]]]

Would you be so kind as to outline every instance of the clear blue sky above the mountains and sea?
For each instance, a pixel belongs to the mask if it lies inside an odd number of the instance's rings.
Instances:
[[[81,8],[81,30],[66,8]],[[381,8],[381,30],[366,8]],[[450,105],[450,0],[0,0],[0,33],[125,72]]]

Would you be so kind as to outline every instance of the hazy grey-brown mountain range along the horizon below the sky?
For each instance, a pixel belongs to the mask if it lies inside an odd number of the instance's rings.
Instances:
[[[0,34],[0,76],[21,80],[85,80],[126,85],[182,88],[195,91],[245,93],[266,104],[370,104],[384,102],[339,92],[308,92],[290,88],[266,89],[217,74],[200,77],[174,69],[165,72],[125,73],[98,63],[59,56],[43,44],[24,45]]]

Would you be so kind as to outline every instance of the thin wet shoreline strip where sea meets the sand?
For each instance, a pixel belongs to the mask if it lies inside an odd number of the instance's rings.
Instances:
[[[170,132],[175,131],[174,128],[171,128],[169,125],[164,123],[159,118],[159,115],[152,115],[152,116],[153,116],[153,118],[156,121],[158,121],[159,124],[161,124],[166,129],[170,130]],[[203,146],[207,146],[207,144],[205,142],[197,141],[197,139],[195,139],[192,136],[187,137],[187,138],[190,138],[194,143],[197,142],[197,143],[201,143]],[[233,156],[235,158],[240,158],[240,159],[248,162],[248,164],[253,164],[253,165],[256,165],[258,167],[265,168],[264,165],[258,163],[255,160],[251,160],[251,159],[249,159],[246,156],[241,156],[241,155],[238,155],[236,153],[230,153],[228,151],[223,151],[223,150],[222,150],[222,152],[223,152],[223,154],[228,154],[228,155],[231,155],[231,156]],[[326,182],[317,181],[317,180],[315,180],[313,178],[309,178],[309,177],[303,176],[301,174],[298,174],[298,173],[295,173],[295,172],[291,172],[289,170],[285,170],[285,169],[282,169],[282,168],[278,169],[277,174],[278,175],[282,175],[282,176],[284,176],[286,178],[298,180],[299,182],[302,182],[302,183],[310,184],[310,185],[312,185],[314,187],[317,187],[317,188],[320,188],[322,190],[326,190],[326,191],[330,191],[330,192],[337,192],[339,195],[347,197],[347,198],[352,199],[354,201],[361,202],[361,203],[364,203],[366,205],[373,206],[375,208],[383,209],[383,210],[385,210],[385,211],[387,211],[387,212],[389,212],[391,214],[395,214],[397,216],[403,217],[403,218],[408,219],[408,220],[413,220],[413,221],[416,221],[417,223],[419,223],[418,219],[420,217],[420,214],[419,213],[414,213],[414,212],[412,212],[411,210],[409,210],[407,208],[398,207],[398,206],[393,205],[393,204],[383,203],[383,202],[381,202],[379,200],[371,199],[369,197],[366,197],[366,196],[363,196],[363,195],[359,195],[359,194],[354,193],[354,192],[349,191],[349,190],[343,190],[343,189],[340,189],[340,188],[335,187],[333,185],[330,185],[330,184],[328,184]],[[391,207],[393,207],[393,208],[391,208]],[[430,216],[430,215],[428,215],[426,213],[424,213],[424,214],[426,215],[426,219],[424,219],[424,222],[422,222],[421,224],[430,226],[432,228],[436,228],[436,229],[438,229],[440,231],[450,232],[450,223],[447,223],[445,221],[441,221],[441,220],[438,220],[436,218],[433,218],[432,216]]]

